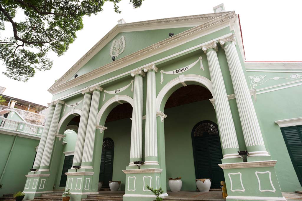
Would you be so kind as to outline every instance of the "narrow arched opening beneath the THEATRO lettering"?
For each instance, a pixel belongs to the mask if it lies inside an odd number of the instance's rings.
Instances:
[[[75,111],[73,111],[75,112]],[[80,110],[76,111],[77,113],[72,113],[69,111],[61,118],[58,127],[58,133],[66,135],[62,141],[62,152],[58,156],[59,160],[59,169],[58,175],[55,182],[55,190],[63,190],[66,186],[67,175],[70,168],[72,168],[73,156],[76,147],[77,133],[80,123]],[[72,114],[70,114],[72,113]]]

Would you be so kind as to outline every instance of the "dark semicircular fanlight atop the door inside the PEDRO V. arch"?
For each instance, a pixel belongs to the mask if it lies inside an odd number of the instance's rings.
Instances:
[[[194,137],[201,137],[206,135],[217,135],[218,128],[213,121],[201,121],[195,127]]]

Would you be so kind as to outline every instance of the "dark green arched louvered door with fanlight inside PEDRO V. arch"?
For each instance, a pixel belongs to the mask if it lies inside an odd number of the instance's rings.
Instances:
[[[221,163],[222,151],[217,125],[212,121],[201,121],[192,130],[192,144],[196,179],[210,178],[211,188],[220,188],[224,181]]]

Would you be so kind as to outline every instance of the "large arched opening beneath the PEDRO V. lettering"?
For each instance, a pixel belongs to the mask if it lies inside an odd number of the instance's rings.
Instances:
[[[199,123],[206,121],[213,122],[212,125],[215,125],[218,132],[216,113],[209,101],[213,98],[211,83],[208,86],[194,81],[185,83],[187,86],[179,83],[170,87],[162,96],[162,102],[158,102],[158,108],[162,108],[167,115],[164,123],[166,177],[182,177],[182,191],[196,191],[195,179],[211,177],[215,180],[215,185],[213,183],[211,188],[219,188],[216,181],[224,181],[223,175],[217,178],[212,176],[217,171],[220,174],[220,167],[216,164],[217,161],[221,163],[222,159],[219,134],[216,133],[214,140],[210,137],[196,140],[198,137],[194,134],[192,136],[192,129],[201,128]],[[210,147],[205,142],[211,143]],[[210,166],[211,162],[215,164]],[[206,170],[202,169],[205,168],[203,163],[208,166]],[[170,190],[169,185],[167,190]]]

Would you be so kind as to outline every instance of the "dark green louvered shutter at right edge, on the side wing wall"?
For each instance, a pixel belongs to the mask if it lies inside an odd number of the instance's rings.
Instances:
[[[291,162],[302,185],[302,126],[281,128]]]

